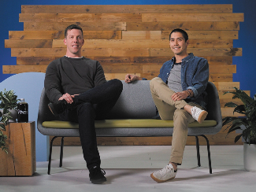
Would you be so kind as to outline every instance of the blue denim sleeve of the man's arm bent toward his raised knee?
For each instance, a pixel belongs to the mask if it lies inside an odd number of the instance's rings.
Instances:
[[[193,90],[194,98],[197,98],[198,95],[202,94],[207,87],[209,80],[209,65],[208,61],[202,58],[198,63],[197,70],[195,75],[192,78],[192,86],[187,87],[187,89]]]

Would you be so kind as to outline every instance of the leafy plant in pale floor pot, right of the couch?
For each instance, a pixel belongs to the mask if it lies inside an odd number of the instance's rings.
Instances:
[[[224,107],[233,107],[233,113],[240,113],[242,116],[227,116],[223,119],[223,125],[230,124],[228,129],[228,134],[232,131],[242,130],[240,135],[235,138],[235,143],[239,138],[243,137],[243,163],[244,168],[247,171],[256,172],[256,94],[254,98],[250,98],[243,90],[239,90],[234,87],[236,91],[225,92],[224,94],[231,93],[234,98],[239,98],[243,105],[237,105],[234,102],[228,102]]]

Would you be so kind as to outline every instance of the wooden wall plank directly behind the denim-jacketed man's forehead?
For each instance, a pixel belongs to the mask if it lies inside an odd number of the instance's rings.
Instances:
[[[169,39],[171,31],[161,31],[161,39]],[[187,35],[188,39],[238,39],[238,31],[187,31]]]

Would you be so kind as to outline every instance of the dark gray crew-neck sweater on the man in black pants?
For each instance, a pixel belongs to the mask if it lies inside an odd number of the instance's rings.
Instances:
[[[106,83],[98,61],[81,57],[61,57],[46,68],[44,87],[50,102],[58,102],[62,94],[81,94]]]

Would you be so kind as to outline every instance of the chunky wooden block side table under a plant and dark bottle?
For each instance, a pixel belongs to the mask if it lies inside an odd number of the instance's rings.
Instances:
[[[35,172],[35,122],[10,123],[6,126],[6,146],[0,151],[0,175],[33,175]]]

